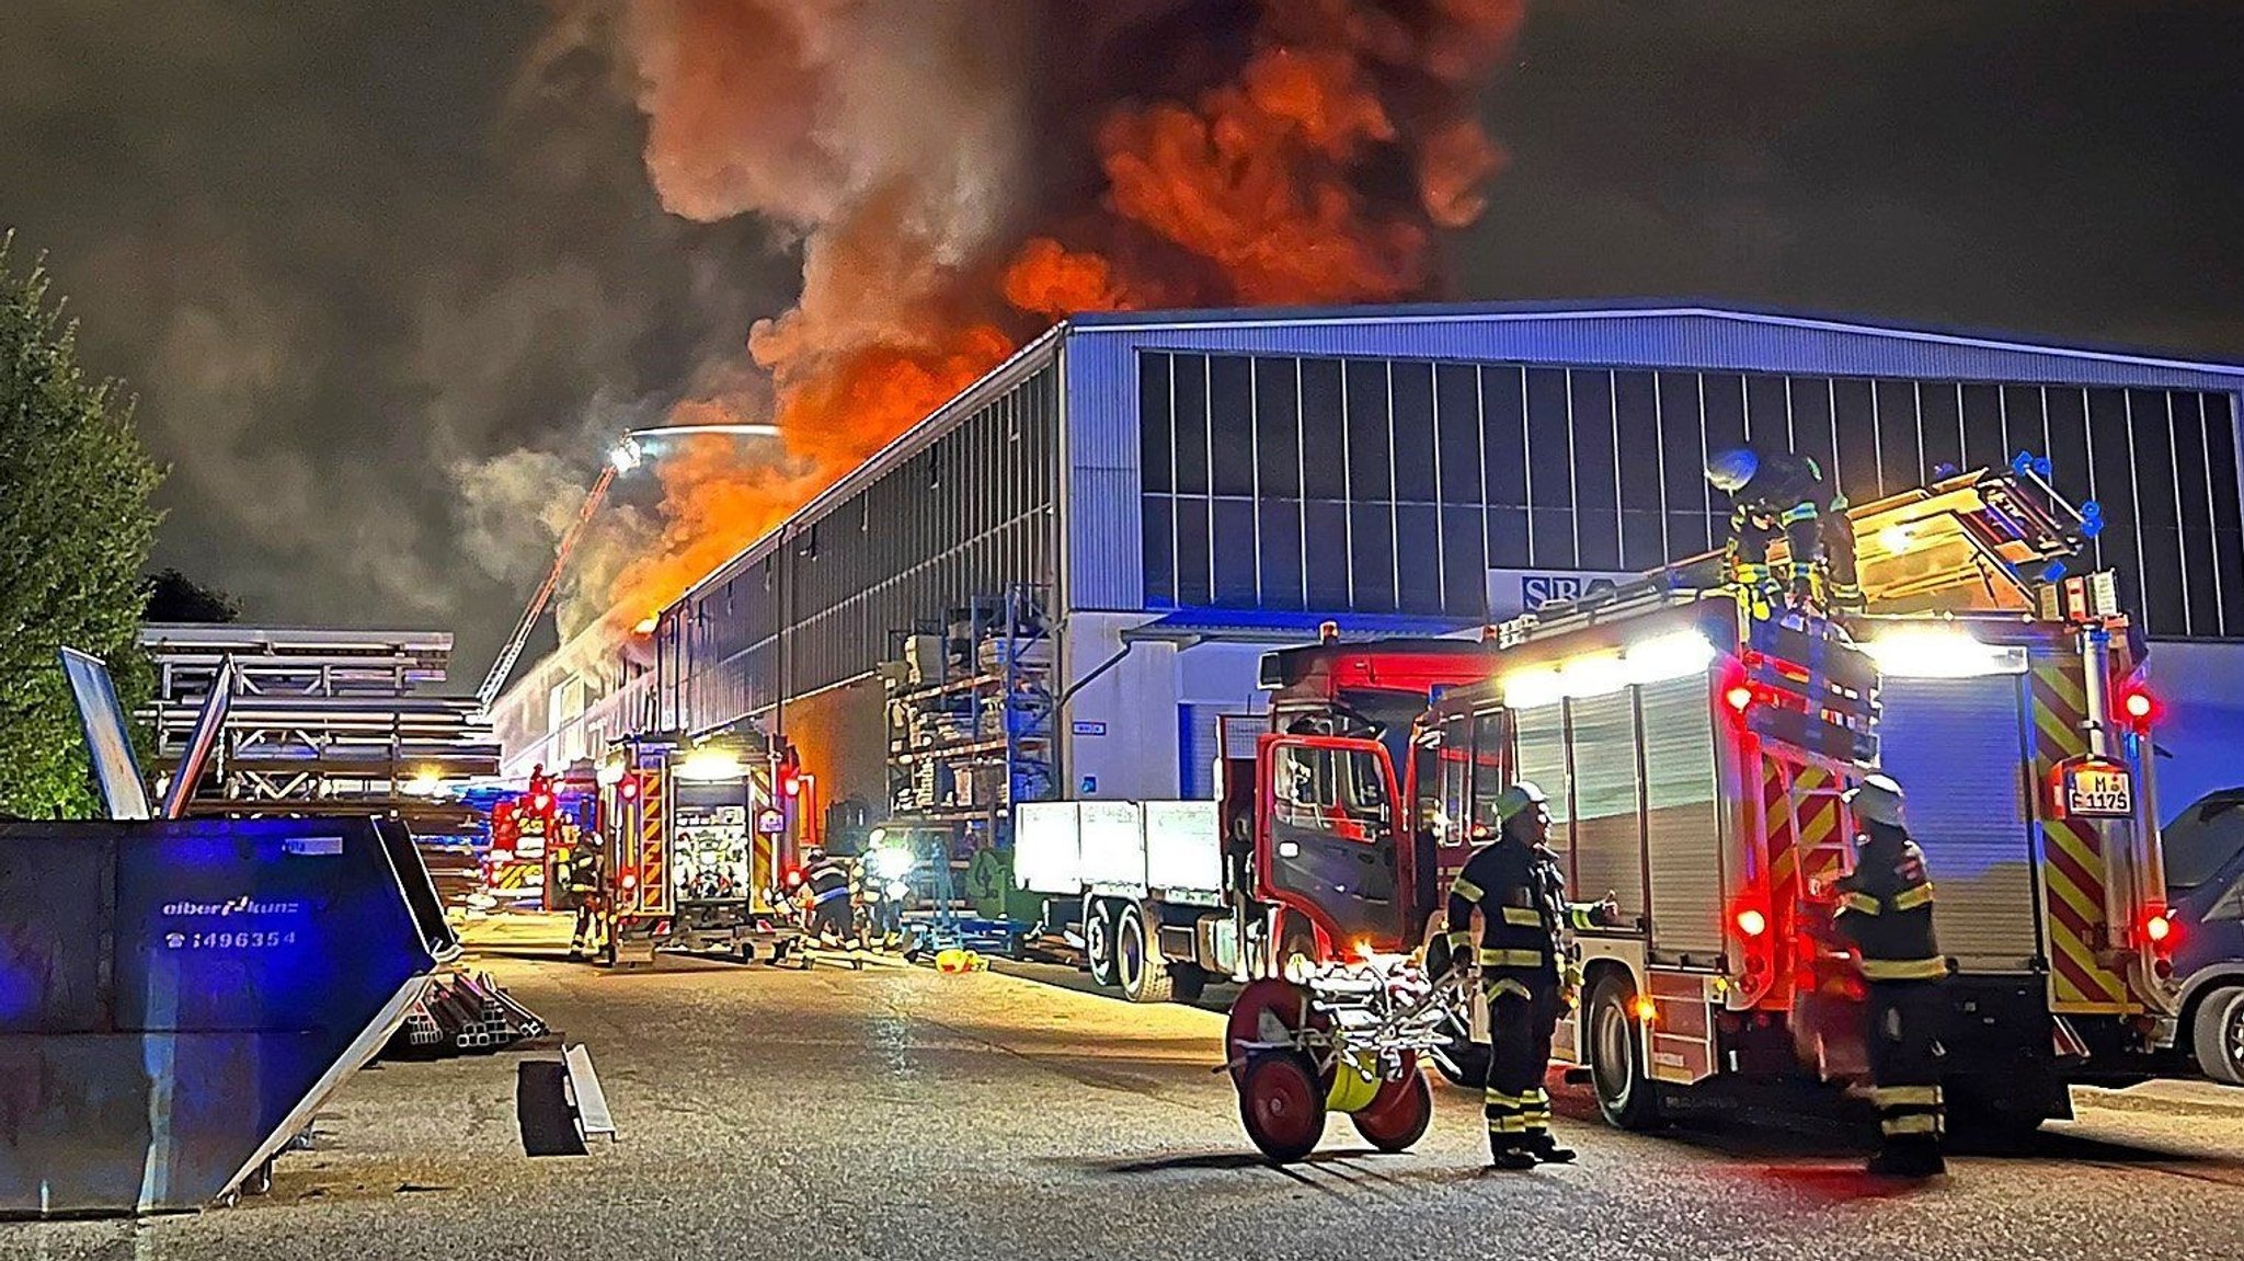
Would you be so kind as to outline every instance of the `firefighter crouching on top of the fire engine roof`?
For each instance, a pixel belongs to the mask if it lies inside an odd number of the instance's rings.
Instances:
[[[1755,592],[1757,604],[1766,604],[1771,592],[1788,590],[1793,604],[1863,608],[1847,500],[1815,460],[1739,447],[1708,458],[1705,480],[1730,496],[1728,559],[1737,583]],[[1768,568],[1768,545],[1777,534],[1784,534],[1788,552],[1782,583]]]

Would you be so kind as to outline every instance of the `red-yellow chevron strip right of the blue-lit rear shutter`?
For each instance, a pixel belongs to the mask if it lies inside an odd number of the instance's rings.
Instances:
[[[2042,895],[2049,906],[2049,996],[2058,1012],[2125,1012],[2127,981],[2098,963],[2107,936],[2098,823],[2051,819],[2047,785],[2060,761],[2089,752],[2087,687],[2078,655],[2033,657],[2033,783],[2042,819]]]

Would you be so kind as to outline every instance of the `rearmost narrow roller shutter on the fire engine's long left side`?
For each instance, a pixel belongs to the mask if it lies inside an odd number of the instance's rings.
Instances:
[[[1723,850],[1708,680],[1654,682],[1640,693],[1654,947],[1661,956],[1712,956],[1723,933]]]

